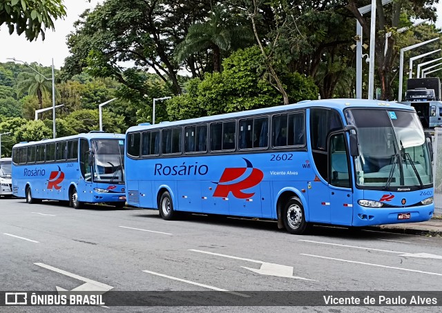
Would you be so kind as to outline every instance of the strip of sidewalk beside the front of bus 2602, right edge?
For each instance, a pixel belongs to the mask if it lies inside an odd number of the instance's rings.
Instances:
[[[430,219],[421,223],[401,223],[373,226],[366,228],[381,232],[396,232],[398,234],[414,234],[420,236],[442,236],[442,219]]]

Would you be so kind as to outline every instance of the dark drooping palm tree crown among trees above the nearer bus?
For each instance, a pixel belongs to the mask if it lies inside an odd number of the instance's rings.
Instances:
[[[220,72],[221,52],[229,51],[244,41],[253,40],[253,34],[244,26],[230,26],[222,18],[222,10],[215,8],[209,20],[195,23],[189,27],[184,41],[175,48],[175,59],[184,61],[187,57],[202,50],[211,49],[213,52],[213,71]]]

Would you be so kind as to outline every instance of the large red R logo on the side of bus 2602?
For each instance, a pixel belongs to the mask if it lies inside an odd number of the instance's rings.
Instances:
[[[253,168],[249,160],[244,159],[244,161],[247,163],[247,168],[226,168],[224,172],[222,172],[220,181],[217,183],[218,186],[216,186],[215,192],[213,192],[213,196],[224,198],[229,196],[229,192],[231,192],[233,196],[238,199],[247,199],[255,194],[255,192],[246,194],[242,192],[242,190],[258,185],[264,178],[264,173],[257,168]],[[241,181],[232,183],[232,181],[239,179],[242,175],[246,174],[246,172],[250,172],[250,174]]]

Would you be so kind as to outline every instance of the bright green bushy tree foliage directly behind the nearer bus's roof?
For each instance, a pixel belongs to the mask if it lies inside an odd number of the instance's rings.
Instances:
[[[224,70],[206,74],[203,81],[192,79],[185,94],[167,101],[172,120],[267,108],[282,104],[282,95],[265,78],[266,66],[257,46],[233,52],[224,59]],[[298,73],[278,73],[289,101],[317,99],[313,79]]]

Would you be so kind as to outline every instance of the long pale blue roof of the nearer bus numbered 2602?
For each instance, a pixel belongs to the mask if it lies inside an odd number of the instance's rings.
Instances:
[[[293,103],[289,105],[278,105],[270,108],[262,108],[256,110],[248,110],[227,114],[212,115],[210,117],[199,117],[196,119],[185,119],[181,121],[173,121],[167,123],[159,123],[155,125],[137,125],[126,130],[127,132],[134,132],[137,130],[145,130],[152,128],[161,128],[164,126],[176,126],[189,123],[204,123],[208,121],[215,121],[220,119],[236,119],[238,117],[247,117],[254,114],[268,114],[273,112],[284,112],[285,110],[294,110],[302,108],[334,108],[336,110],[344,110],[345,108],[392,108],[392,109],[402,109],[414,111],[409,105],[404,105],[392,101],[378,101],[378,100],[367,100],[367,99],[323,99],[314,101],[300,101],[298,103]]]

